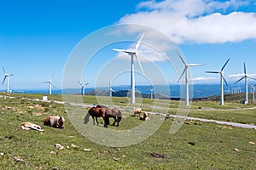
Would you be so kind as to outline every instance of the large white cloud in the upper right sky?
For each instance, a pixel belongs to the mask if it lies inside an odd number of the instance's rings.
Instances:
[[[146,1],[137,5],[136,14],[126,14],[119,23],[153,27],[177,43],[240,42],[256,38],[256,13],[235,11],[248,4],[241,0]]]

